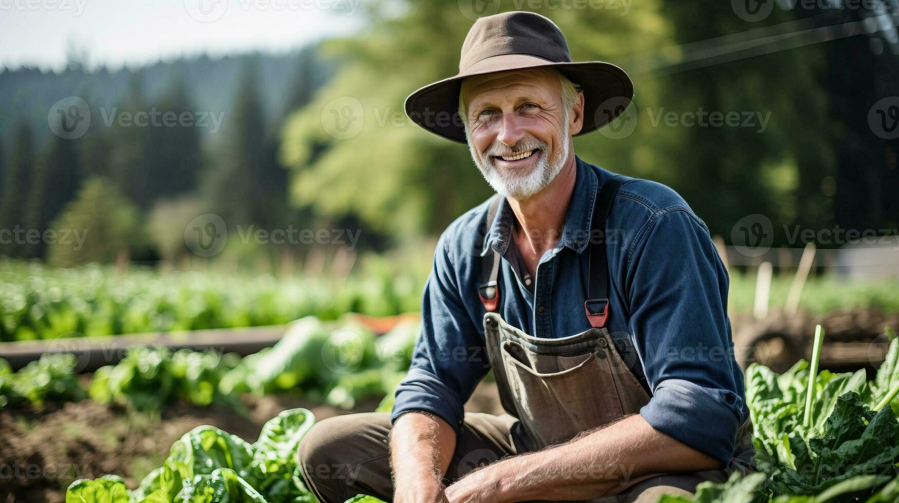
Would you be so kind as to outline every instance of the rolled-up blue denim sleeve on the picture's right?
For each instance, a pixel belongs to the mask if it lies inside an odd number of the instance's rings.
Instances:
[[[743,374],[727,318],[727,272],[686,208],[656,214],[628,255],[630,330],[653,397],[653,428],[722,463],[746,419]]]

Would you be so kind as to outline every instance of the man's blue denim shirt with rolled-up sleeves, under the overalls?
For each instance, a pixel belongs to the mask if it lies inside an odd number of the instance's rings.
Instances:
[[[486,233],[487,201],[441,234],[423,293],[421,337],[396,390],[391,421],[423,410],[453,428],[462,424],[463,405],[490,369],[485,308],[477,296],[485,246],[503,256],[497,309],[503,320],[547,339],[591,328],[583,301],[592,208],[613,173],[579,157],[576,163],[565,229],[556,247],[540,258],[533,293],[516,260],[510,260],[515,216],[505,199]],[[727,271],[708,228],[677,192],[639,179],[621,186],[606,228],[607,327],[613,338],[629,338],[636,348],[651,392],[640,414],[663,433],[728,462],[749,410],[727,317]]]

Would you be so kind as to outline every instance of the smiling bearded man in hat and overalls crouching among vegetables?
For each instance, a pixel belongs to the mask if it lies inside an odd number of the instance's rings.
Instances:
[[[497,195],[441,235],[392,413],[303,439],[318,499],[654,502],[752,469],[706,225],[673,190],[574,154],[632,96],[623,70],[572,62],[556,25],[525,12],[478,19],[459,74],[409,96]],[[489,370],[507,413],[466,413]]]

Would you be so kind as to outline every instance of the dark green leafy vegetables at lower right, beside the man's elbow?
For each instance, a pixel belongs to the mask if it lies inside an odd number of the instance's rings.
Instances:
[[[755,428],[759,472],[738,473],[725,484],[706,482],[693,499],[663,503],[868,503],[899,501],[899,340],[891,337],[886,360],[868,381],[864,370],[815,372],[823,331],[812,362],[799,360],[777,375],[746,369],[746,400]]]

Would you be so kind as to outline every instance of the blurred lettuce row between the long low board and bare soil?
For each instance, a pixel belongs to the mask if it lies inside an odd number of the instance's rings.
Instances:
[[[239,408],[241,393],[301,391],[310,400],[352,409],[360,400],[393,392],[409,367],[418,327],[405,322],[376,338],[352,319],[322,322],[307,316],[290,323],[274,347],[243,359],[134,348],[117,365],[99,368],[86,393],[76,381],[72,355],[44,355],[17,373],[0,359],[0,408],[74,402],[88,395],[138,410],[158,410],[178,400]]]

